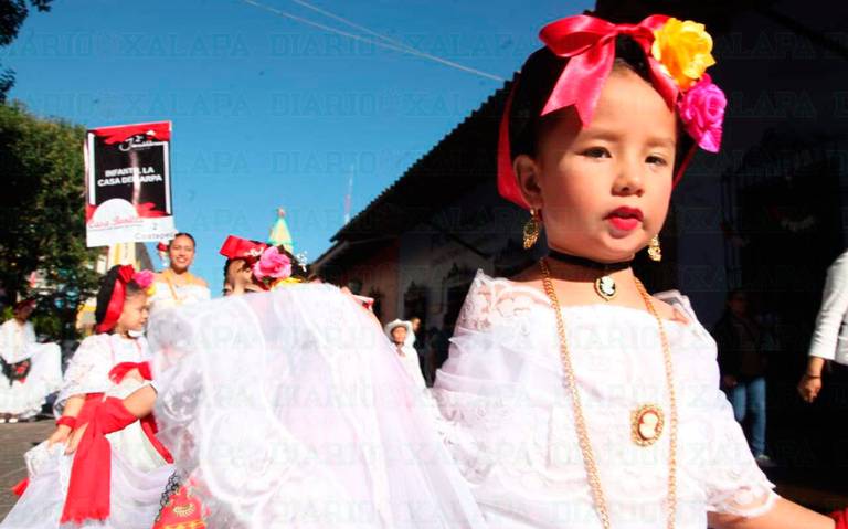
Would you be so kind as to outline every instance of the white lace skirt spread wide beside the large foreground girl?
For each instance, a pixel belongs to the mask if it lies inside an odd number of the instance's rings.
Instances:
[[[380,324],[328,285],[155,315],[160,438],[214,528],[483,528]]]

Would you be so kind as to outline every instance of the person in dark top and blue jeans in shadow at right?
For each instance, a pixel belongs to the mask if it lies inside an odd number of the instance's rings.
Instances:
[[[727,308],[713,328],[719,347],[721,384],[740,424],[751,421],[749,444],[761,465],[770,465],[765,454],[765,341],[767,334],[751,317],[748,295],[732,290]]]

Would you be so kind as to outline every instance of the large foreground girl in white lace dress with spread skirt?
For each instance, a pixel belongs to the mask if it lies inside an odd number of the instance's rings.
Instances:
[[[326,285],[153,321],[157,416],[212,527],[833,528],[780,498],[686,297],[630,262],[725,99],[701,24],[547,25],[500,128],[498,187],[550,254],[478,273],[437,408]],[[839,521],[838,527],[844,527]]]

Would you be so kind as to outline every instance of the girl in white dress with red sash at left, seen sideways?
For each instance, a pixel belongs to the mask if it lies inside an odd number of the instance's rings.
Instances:
[[[28,483],[2,529],[149,529],[172,473],[151,420],[138,421],[120,399],[150,379],[147,320],[151,272],[115,266],[97,295],[97,334],[83,340],[56,400],[56,430],[26,453]],[[82,437],[74,455],[72,435]]]

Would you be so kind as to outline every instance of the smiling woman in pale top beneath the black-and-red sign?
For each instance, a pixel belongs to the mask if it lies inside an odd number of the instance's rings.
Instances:
[[[189,305],[210,299],[209,285],[189,268],[194,262],[194,237],[180,232],[168,243],[168,267],[156,275],[150,310]]]

